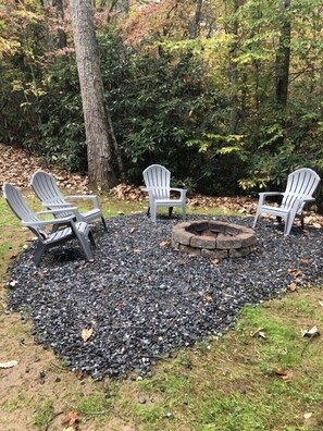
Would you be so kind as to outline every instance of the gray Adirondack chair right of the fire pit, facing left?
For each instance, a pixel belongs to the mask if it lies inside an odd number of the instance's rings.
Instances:
[[[307,202],[313,202],[315,200],[312,195],[319,183],[320,176],[316,172],[308,168],[302,168],[288,175],[285,192],[260,193],[252,227],[256,227],[259,216],[261,213],[266,213],[275,216],[278,220],[285,220],[284,236],[289,235],[296,217],[300,218],[303,229],[302,210]],[[271,196],[282,196],[282,204],[279,207],[265,205],[265,199]]]

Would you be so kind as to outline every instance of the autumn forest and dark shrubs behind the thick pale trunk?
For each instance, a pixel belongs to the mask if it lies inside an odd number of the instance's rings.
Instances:
[[[284,188],[302,167],[323,177],[322,0],[91,4],[119,181],[139,185],[161,163],[173,185],[233,196]],[[0,112],[0,141],[87,173],[62,0],[1,3]]]

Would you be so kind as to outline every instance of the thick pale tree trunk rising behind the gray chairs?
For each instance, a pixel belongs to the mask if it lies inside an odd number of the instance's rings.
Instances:
[[[117,182],[111,162],[91,0],[70,0],[70,9],[87,140],[89,186],[107,189]]]

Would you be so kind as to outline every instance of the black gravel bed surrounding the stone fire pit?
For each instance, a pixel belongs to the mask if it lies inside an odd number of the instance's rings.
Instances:
[[[74,370],[98,380],[149,377],[158,359],[232,329],[245,304],[279,296],[296,275],[298,286],[323,284],[321,230],[294,227],[284,238],[277,224],[260,221],[256,251],[216,264],[172,248],[178,222],[120,217],[107,220],[108,233],[98,223],[94,263],[73,242],[49,250],[36,268],[32,245],[11,269],[9,308],[27,313],[35,341]],[[87,341],[85,328],[92,330]]]

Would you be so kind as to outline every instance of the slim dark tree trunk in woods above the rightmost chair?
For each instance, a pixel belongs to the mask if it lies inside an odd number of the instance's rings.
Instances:
[[[281,0],[281,37],[276,56],[276,103],[286,107],[290,59],[290,0]]]

